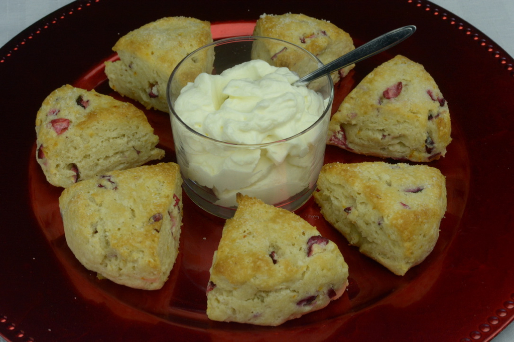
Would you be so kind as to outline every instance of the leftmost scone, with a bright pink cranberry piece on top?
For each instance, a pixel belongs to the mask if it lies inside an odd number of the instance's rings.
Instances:
[[[141,110],[70,85],[44,100],[35,131],[36,159],[48,182],[57,187],[164,156],[156,148],[159,137]]]

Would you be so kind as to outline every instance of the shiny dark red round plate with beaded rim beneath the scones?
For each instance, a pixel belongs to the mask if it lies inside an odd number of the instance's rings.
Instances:
[[[180,254],[159,291],[98,280],[68,249],[57,198],[35,162],[34,120],[43,99],[69,83],[114,94],[102,62],[126,32],[164,16],[213,23],[215,38],[250,34],[262,13],[304,13],[361,45],[416,25],[407,41],[359,63],[337,101],[395,54],[421,63],[448,100],[453,142],[430,163],[447,178],[448,211],[434,251],[405,276],[362,256],[308,202],[297,213],[334,240],[350,286],[327,308],[279,327],[210,321],[205,287],[224,220],[185,199]],[[0,201],[0,334],[13,341],[489,340],[514,318],[514,61],[482,32],[428,1],[328,0],[174,3],[79,1],[35,23],[0,50],[3,125]],[[118,98],[120,98],[118,96]],[[126,100],[126,99],[124,99]],[[174,160],[169,117],[145,111]],[[329,146],[326,162],[377,160]]]

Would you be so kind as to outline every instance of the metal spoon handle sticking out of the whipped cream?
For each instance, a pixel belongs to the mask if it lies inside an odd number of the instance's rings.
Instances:
[[[405,39],[410,37],[415,31],[416,27],[414,25],[410,25],[400,27],[399,29],[382,34],[372,41],[359,46],[355,50],[352,50],[342,55],[341,57],[334,59],[334,61],[322,66],[321,68],[303,76],[294,84],[306,84],[310,81],[314,81],[315,79],[320,78],[323,75],[360,62],[368,57],[374,56],[377,53],[385,51],[395,46],[396,44],[405,41]]]

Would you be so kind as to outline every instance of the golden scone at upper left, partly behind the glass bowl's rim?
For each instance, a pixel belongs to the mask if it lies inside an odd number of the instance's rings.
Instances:
[[[120,59],[105,62],[109,86],[147,109],[168,113],[166,87],[173,69],[189,53],[211,42],[211,24],[195,18],[166,17],[146,24],[114,45]],[[213,61],[213,54],[199,58],[191,65],[191,74],[210,72]]]

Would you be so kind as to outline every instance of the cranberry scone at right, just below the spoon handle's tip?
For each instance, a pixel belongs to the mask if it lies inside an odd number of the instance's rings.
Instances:
[[[448,104],[425,68],[397,55],[368,74],[331,119],[328,144],[429,162],[451,142]]]

